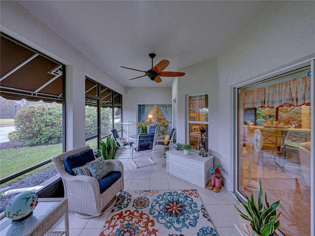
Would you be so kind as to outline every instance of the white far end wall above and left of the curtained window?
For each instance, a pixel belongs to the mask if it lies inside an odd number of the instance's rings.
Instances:
[[[137,133],[139,104],[172,104],[172,88],[126,88],[123,96],[123,122],[129,125],[129,136]],[[124,128],[124,137],[126,130]]]

